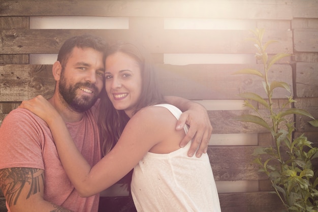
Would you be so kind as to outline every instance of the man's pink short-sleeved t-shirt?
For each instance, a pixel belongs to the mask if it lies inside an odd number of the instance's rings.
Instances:
[[[79,122],[67,123],[78,149],[91,166],[101,159],[94,115],[97,104]],[[38,116],[26,109],[11,111],[0,127],[0,146],[0,169],[44,169],[45,200],[73,211],[98,211],[99,194],[88,198],[79,196],[61,165],[50,129]]]

